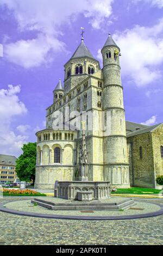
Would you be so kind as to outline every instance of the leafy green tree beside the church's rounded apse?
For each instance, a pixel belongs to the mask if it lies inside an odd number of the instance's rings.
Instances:
[[[23,145],[23,154],[16,160],[16,173],[20,180],[35,182],[36,143]]]

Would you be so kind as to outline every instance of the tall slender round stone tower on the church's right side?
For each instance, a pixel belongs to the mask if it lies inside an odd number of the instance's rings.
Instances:
[[[109,34],[102,48],[103,56],[103,106],[105,179],[118,187],[129,187],[129,165],[127,156],[126,121],[123,107],[121,83],[120,48]]]

